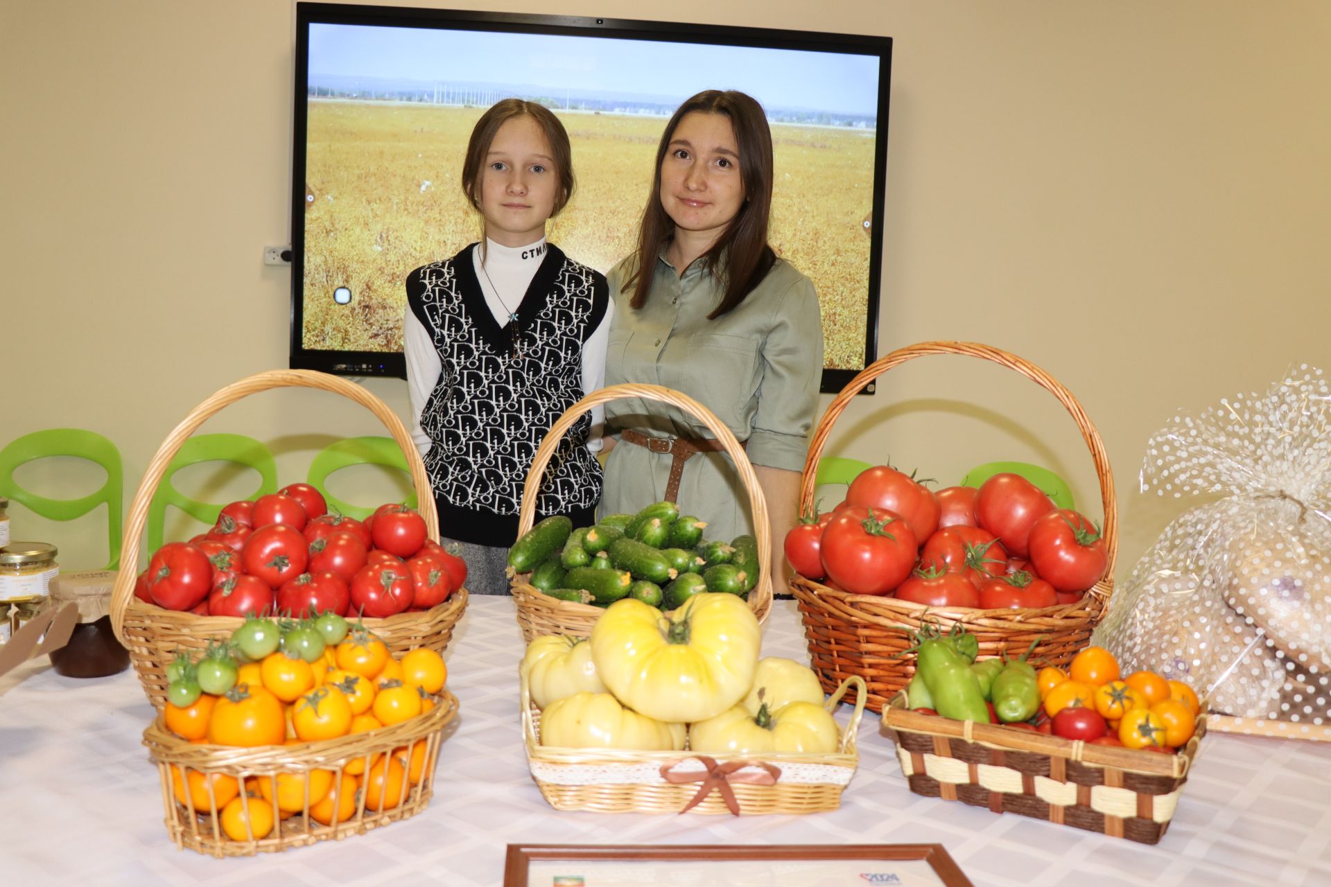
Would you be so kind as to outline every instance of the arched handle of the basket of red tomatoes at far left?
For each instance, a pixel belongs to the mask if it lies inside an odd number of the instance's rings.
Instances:
[[[116,637],[128,644],[124,636],[125,609],[134,593],[134,580],[137,578],[136,565],[138,564],[140,536],[144,524],[148,521],[148,509],[152,505],[157,487],[176,457],[185,440],[198,430],[204,422],[242,398],[273,388],[318,388],[331,391],[357,402],[383,423],[393,435],[393,439],[402,447],[402,453],[407,459],[407,471],[411,483],[417,489],[418,511],[425,519],[426,533],[430,539],[439,540],[439,515],[434,507],[434,492],[430,484],[430,475],[425,469],[425,461],[411,440],[410,432],[398,415],[389,408],[379,398],[374,396],[354,382],[347,382],[339,376],[313,370],[270,370],[233,382],[232,384],[214,392],[210,398],[194,407],[176,428],[166,435],[166,440],[157,448],[157,455],[148,463],[144,479],[138,483],[138,492],[129,504],[129,516],[125,519],[125,529],[120,548],[120,573],[116,576],[116,585],[110,596],[110,625]]]

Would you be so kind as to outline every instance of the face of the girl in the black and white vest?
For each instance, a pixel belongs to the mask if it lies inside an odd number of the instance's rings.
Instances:
[[[554,153],[530,116],[506,120],[480,173],[480,215],[486,237],[503,246],[526,246],[546,235],[546,219],[559,195]]]

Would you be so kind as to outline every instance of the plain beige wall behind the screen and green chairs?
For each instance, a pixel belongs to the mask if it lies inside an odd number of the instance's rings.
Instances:
[[[1147,435],[1328,363],[1320,0],[465,5],[894,37],[880,352],[973,339],[1071,388],[1117,471],[1121,577],[1186,504],[1137,495]],[[95,428],[128,503],[197,402],[285,366],[289,273],[261,249],[287,239],[293,23],[280,0],[0,0],[0,443]],[[406,415],[401,382],[365,384]],[[205,430],[268,440],[294,480],[327,440],[377,432],[357,410],[274,392]],[[1058,404],[962,358],[893,370],[828,452],[946,483],[1041,461],[1097,499]],[[69,567],[102,557],[96,521],[13,519]]]

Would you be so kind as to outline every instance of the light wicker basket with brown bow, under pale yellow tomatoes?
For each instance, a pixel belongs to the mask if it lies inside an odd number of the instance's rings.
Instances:
[[[828,697],[836,711],[860,685],[851,721],[835,754],[691,755],[688,751],[558,749],[540,745],[540,710],[522,678],[522,737],[540,794],[555,810],[592,813],[823,813],[841,806],[841,791],[860,765],[855,737],[864,715],[862,681],[847,678]]]

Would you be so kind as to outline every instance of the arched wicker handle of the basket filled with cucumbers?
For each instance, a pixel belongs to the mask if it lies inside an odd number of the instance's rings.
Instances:
[[[531,471],[527,473],[527,483],[522,488],[522,509],[518,512],[518,536],[522,536],[531,529],[535,523],[536,497],[540,492],[540,477],[546,471],[546,465],[550,464],[550,459],[555,455],[555,448],[563,439],[564,432],[567,432],[584,412],[590,412],[592,407],[599,407],[603,403],[610,403],[611,400],[618,400],[620,398],[658,400],[660,403],[677,407],[699,419],[704,426],[707,426],[707,430],[716,435],[716,439],[721,442],[721,447],[735,461],[736,471],[740,472],[740,480],[744,481],[744,489],[748,491],[749,512],[753,517],[753,536],[757,539],[757,560],[760,572],[757,585],[755,585],[753,590],[749,592],[749,601],[753,601],[755,596],[757,596],[756,601],[759,608],[765,606],[772,600],[772,527],[768,521],[767,501],[763,499],[763,489],[757,483],[757,475],[753,473],[753,465],[744,453],[744,448],[740,445],[740,442],[735,438],[735,432],[732,432],[724,422],[717,419],[711,410],[693,400],[687,394],[681,394],[672,388],[654,384],[608,386],[606,388],[592,391],[582,400],[568,407],[568,410],[564,411],[564,415],[559,416],[555,424],[550,428],[550,432],[544,436],[544,439],[542,439],[540,447],[536,448],[536,456],[532,459]]]

